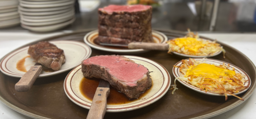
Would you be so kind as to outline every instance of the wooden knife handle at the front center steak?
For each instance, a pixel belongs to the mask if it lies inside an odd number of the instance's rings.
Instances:
[[[87,119],[92,118],[103,118],[106,113],[106,103],[107,97],[109,95],[110,89],[98,87],[94,94],[94,99],[92,106],[90,106],[89,113],[87,115]]]

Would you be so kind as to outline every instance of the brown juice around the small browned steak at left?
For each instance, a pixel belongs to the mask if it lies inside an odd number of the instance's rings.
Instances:
[[[21,60],[19,60],[16,64],[16,68],[18,70],[20,70],[21,72],[28,72],[27,69],[26,69],[26,66],[24,65],[25,64],[25,61],[26,61],[26,58],[29,58],[30,56],[26,56],[24,58],[22,58]],[[47,73],[51,73],[51,72],[55,72],[53,69],[51,68],[47,68],[45,66],[42,65],[42,70],[44,72],[47,72]]]

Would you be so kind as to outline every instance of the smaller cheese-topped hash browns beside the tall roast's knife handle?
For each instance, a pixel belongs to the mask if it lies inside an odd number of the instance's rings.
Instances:
[[[216,52],[223,51],[225,58],[225,50],[221,44],[216,43],[216,41],[199,38],[197,33],[194,34],[189,29],[185,37],[175,38],[167,41],[167,43],[169,44],[169,54],[177,52],[193,56],[211,56]]]

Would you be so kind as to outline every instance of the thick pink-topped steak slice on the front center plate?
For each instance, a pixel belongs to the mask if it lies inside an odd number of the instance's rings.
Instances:
[[[123,56],[90,57],[82,62],[82,72],[84,77],[108,81],[130,99],[138,99],[152,85],[148,68]]]

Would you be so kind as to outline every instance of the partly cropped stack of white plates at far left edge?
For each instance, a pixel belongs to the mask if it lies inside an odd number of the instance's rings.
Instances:
[[[18,0],[0,0],[0,28],[20,24],[20,15],[17,12],[18,5]]]

